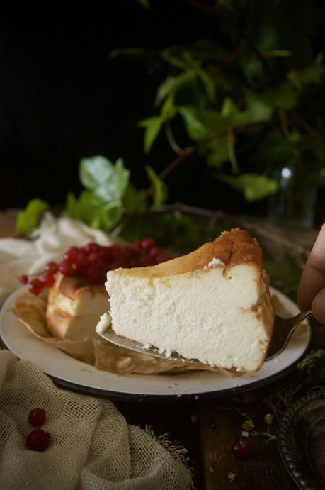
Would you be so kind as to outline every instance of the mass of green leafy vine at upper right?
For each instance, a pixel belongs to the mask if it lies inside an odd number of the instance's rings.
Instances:
[[[206,38],[148,51],[164,77],[154,101],[160,114],[139,123],[144,151],[152,150],[166,123],[169,142],[171,123],[183,124],[190,143],[178,146],[195,145],[207,168],[222,170],[212,175],[249,201],[278,190],[273,177],[283,165],[302,186],[324,185],[325,106],[315,101],[309,108],[316,89],[324,101],[324,53],[313,45],[318,7],[313,0],[222,0],[218,6],[216,14],[205,2],[218,42]],[[144,51],[134,54],[143,57]]]

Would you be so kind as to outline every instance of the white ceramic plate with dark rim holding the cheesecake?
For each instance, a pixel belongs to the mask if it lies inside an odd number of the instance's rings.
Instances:
[[[311,339],[309,324],[302,325],[292,336],[285,351],[267,361],[258,372],[228,377],[213,372],[173,375],[128,374],[118,376],[70,357],[61,350],[35,338],[33,333],[11,313],[20,288],[6,299],[0,311],[0,337],[4,347],[20,359],[29,360],[57,384],[68,389],[110,398],[152,401],[161,399],[201,399],[220,394],[247,391],[283,376],[306,352]],[[275,289],[285,309],[294,316],[298,308],[287,296]]]

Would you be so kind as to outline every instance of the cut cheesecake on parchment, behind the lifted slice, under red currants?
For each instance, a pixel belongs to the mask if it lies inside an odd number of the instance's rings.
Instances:
[[[90,340],[98,317],[107,311],[107,294],[103,284],[89,284],[83,277],[64,277],[58,273],[47,301],[47,330],[57,338]]]

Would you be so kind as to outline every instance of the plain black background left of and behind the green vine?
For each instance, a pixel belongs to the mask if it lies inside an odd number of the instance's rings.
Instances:
[[[123,157],[137,186],[144,165],[159,170],[175,156],[161,135],[149,155],[137,121],[152,107],[164,72],[117,58],[115,48],[164,48],[220,37],[214,18],[183,0],[135,0],[2,12],[0,16],[0,208],[23,207],[40,197],[64,204],[81,190],[82,157]],[[236,213],[266,213],[267,200],[248,204],[217,182],[203,162],[188,160],[168,179],[169,201]]]

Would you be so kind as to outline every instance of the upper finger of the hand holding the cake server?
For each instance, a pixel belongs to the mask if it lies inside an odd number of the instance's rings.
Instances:
[[[311,307],[315,296],[325,288],[325,223],[321,227],[312,252],[302,272],[298,289],[298,305],[301,310]],[[315,298],[316,299],[316,298]]]

